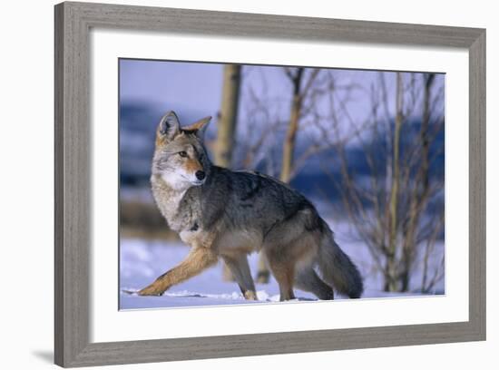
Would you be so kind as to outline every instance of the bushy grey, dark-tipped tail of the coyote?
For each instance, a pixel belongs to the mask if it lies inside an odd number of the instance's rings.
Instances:
[[[329,286],[350,298],[362,295],[364,284],[357,267],[339,248],[333,232],[324,224],[323,237],[318,249],[318,269]]]

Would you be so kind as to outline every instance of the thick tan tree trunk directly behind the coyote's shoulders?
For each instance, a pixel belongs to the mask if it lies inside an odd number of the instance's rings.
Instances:
[[[223,69],[223,86],[221,94],[220,119],[217,126],[217,140],[215,141],[215,164],[220,167],[230,168],[238,108],[240,99],[240,65],[226,64]],[[223,265],[223,279],[234,279],[227,265]]]

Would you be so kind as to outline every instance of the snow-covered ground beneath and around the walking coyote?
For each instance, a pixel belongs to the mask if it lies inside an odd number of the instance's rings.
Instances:
[[[343,233],[346,234],[346,233]],[[363,297],[399,297],[416,296],[418,293],[386,293],[381,290],[382,281],[379,274],[372,272],[369,257],[365,248],[357,242],[341,238],[336,234],[338,244],[347,252],[360,269],[366,287]],[[442,246],[443,247],[443,246]],[[440,248],[443,250],[443,248]],[[143,239],[121,239],[120,245],[120,307],[121,309],[158,308],[158,307],[191,307],[212,305],[252,304],[240,294],[235,282],[222,279],[221,263],[207,269],[197,277],[171,287],[161,297],[139,297],[126,291],[137,291],[149,285],[156,277],[177,265],[188,254],[189,248],[181,242],[151,241]],[[435,258],[434,258],[435,259]],[[255,275],[258,254],[249,256],[249,266]],[[415,273],[413,279],[417,283],[420,274]],[[442,294],[444,281],[441,281],[435,292]],[[279,287],[270,278],[269,284],[257,285],[259,303],[279,301]],[[295,289],[298,300],[316,300],[317,297],[308,292]],[[339,297],[338,298],[342,298]]]

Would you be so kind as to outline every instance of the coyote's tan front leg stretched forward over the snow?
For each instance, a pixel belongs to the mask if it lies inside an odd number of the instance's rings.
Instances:
[[[144,287],[139,291],[139,295],[161,296],[171,286],[200,274],[203,269],[214,265],[217,260],[218,256],[209,248],[193,248],[180,265],[165,272],[150,286]]]

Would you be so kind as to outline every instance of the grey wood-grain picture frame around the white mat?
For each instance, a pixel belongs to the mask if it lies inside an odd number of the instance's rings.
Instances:
[[[85,3],[55,5],[54,12],[55,364],[64,367],[114,365],[485,339],[484,29]],[[344,41],[467,49],[469,320],[428,325],[91,343],[89,31],[92,27],[290,38],[323,43]]]

